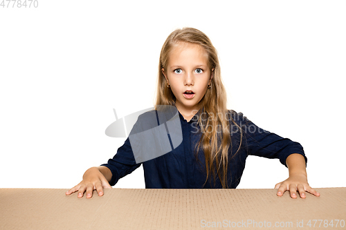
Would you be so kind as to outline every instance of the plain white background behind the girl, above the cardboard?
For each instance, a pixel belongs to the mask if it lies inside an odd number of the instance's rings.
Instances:
[[[113,108],[153,106],[163,42],[186,26],[217,48],[228,108],[300,142],[311,186],[346,186],[346,1],[38,2],[0,7],[1,187],[71,188],[113,157]],[[238,188],[287,176],[251,156]],[[142,166],[114,187],[145,188]]]

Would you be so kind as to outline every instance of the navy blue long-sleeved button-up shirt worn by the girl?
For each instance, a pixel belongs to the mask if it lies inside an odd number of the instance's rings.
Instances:
[[[179,113],[183,142],[169,153],[152,160],[137,164],[129,138],[127,138],[125,143],[118,148],[116,155],[109,159],[108,164],[102,164],[111,170],[112,178],[109,184],[113,186],[120,178],[143,164],[145,188],[147,189],[221,189],[221,182],[217,174],[216,180],[206,182],[206,161],[203,150],[199,151],[198,160],[193,152],[194,145],[199,142],[201,137],[201,133],[197,132],[199,126],[196,122],[200,113],[201,111],[194,115],[189,122]],[[229,160],[227,175],[230,188],[235,189],[239,184],[248,155],[277,158],[286,166],[286,157],[292,153],[300,153],[307,162],[303,148],[298,142],[265,131],[244,117],[242,113],[230,111],[229,115],[239,126],[242,126],[243,130],[242,144],[239,148],[240,132],[234,124],[230,124],[232,126],[230,127],[232,147],[229,151],[228,159],[231,160]],[[140,117],[138,117],[139,119]]]

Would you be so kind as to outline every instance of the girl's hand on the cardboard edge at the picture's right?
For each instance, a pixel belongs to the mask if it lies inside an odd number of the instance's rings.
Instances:
[[[320,193],[316,192],[315,189],[309,186],[307,182],[307,176],[304,174],[295,174],[290,175],[289,178],[283,182],[275,184],[275,189],[277,189],[278,196],[284,195],[285,191],[291,193],[291,198],[297,198],[297,192],[300,195],[300,198],[306,198],[305,191],[316,196],[320,196]]]

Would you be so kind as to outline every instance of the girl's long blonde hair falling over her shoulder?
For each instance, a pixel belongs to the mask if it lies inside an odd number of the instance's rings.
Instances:
[[[167,70],[170,50],[172,50],[173,46],[179,41],[198,44],[203,47],[208,54],[208,68],[210,68],[210,73],[213,77],[211,87],[208,88],[206,94],[199,102],[202,111],[197,122],[201,128],[202,135],[199,143],[195,146],[194,151],[198,154],[199,148],[203,148],[206,159],[206,182],[210,177],[210,173],[212,173],[215,184],[216,169],[222,187],[225,189],[228,188],[227,169],[230,160],[228,159],[228,151],[232,147],[230,140],[230,121],[234,122],[234,120],[231,116],[228,116],[229,111],[226,108],[226,90],[221,79],[217,50],[212,46],[210,39],[200,30],[195,28],[174,30],[163,44],[158,64],[158,84],[155,109],[157,109],[158,105],[174,106],[175,104],[176,98],[172,93],[172,90],[167,88],[167,81],[163,75],[162,68]],[[210,119],[210,117],[212,118]],[[212,131],[208,131],[210,127],[212,128]],[[221,129],[217,130],[216,127],[221,127]],[[204,184],[206,184],[206,182]]]

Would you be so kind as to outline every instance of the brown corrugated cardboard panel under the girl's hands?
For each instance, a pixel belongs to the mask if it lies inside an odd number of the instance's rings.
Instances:
[[[276,189],[66,191],[0,189],[0,229],[346,229],[346,188],[306,199]]]

